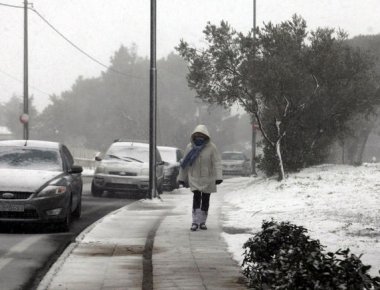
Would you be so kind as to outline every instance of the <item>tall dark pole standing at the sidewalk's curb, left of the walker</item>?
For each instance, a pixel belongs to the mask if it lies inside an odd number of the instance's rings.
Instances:
[[[149,198],[156,197],[156,130],[157,130],[157,68],[156,68],[156,0],[150,1],[150,90],[149,90]]]

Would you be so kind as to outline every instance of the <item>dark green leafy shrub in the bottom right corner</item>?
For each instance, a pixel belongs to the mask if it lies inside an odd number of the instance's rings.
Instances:
[[[324,253],[307,230],[289,222],[264,221],[244,244],[243,274],[254,289],[380,289],[380,277],[350,250]]]

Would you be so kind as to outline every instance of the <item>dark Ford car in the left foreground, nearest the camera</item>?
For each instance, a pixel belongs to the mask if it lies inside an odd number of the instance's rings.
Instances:
[[[0,141],[0,222],[70,228],[82,205],[82,167],[68,148],[36,140]]]

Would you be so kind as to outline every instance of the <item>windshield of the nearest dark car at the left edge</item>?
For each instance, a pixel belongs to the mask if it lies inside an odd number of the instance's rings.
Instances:
[[[58,151],[28,147],[0,147],[0,168],[62,171]]]

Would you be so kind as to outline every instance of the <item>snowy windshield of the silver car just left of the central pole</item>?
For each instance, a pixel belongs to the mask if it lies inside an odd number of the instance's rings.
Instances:
[[[118,158],[125,161],[149,162],[149,148],[114,146],[108,149],[105,159]]]

